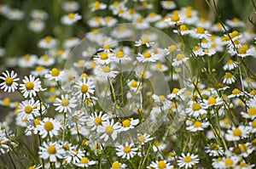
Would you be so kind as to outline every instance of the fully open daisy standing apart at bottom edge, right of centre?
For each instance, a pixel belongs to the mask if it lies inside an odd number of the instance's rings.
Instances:
[[[178,157],[178,159],[179,160],[177,160],[177,166],[184,166],[185,168],[190,168],[199,162],[198,155],[190,155],[189,153],[187,155],[182,154]]]

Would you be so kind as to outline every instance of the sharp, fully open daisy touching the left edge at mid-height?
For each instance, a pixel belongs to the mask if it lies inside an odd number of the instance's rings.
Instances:
[[[5,70],[5,72],[2,72],[3,76],[0,76],[0,79],[2,79],[4,82],[0,83],[0,88],[3,90],[3,92],[15,92],[15,90],[18,88],[19,84],[18,81],[20,78],[17,78],[17,73],[15,73],[14,70],[11,70],[9,73],[8,70]]]

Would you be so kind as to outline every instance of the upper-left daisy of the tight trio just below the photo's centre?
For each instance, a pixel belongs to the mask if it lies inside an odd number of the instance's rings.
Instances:
[[[102,111],[100,111],[99,115],[94,112],[90,115],[90,117],[87,119],[86,124],[87,126],[91,127],[90,130],[94,131],[97,129],[97,127],[102,126],[102,122],[108,120],[108,115],[103,114]]]

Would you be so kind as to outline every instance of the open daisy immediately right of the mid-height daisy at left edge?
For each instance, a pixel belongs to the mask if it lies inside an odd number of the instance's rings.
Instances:
[[[20,84],[20,91],[25,98],[32,98],[36,96],[38,92],[44,90],[41,87],[41,81],[35,76],[25,76],[22,82],[23,84]]]

